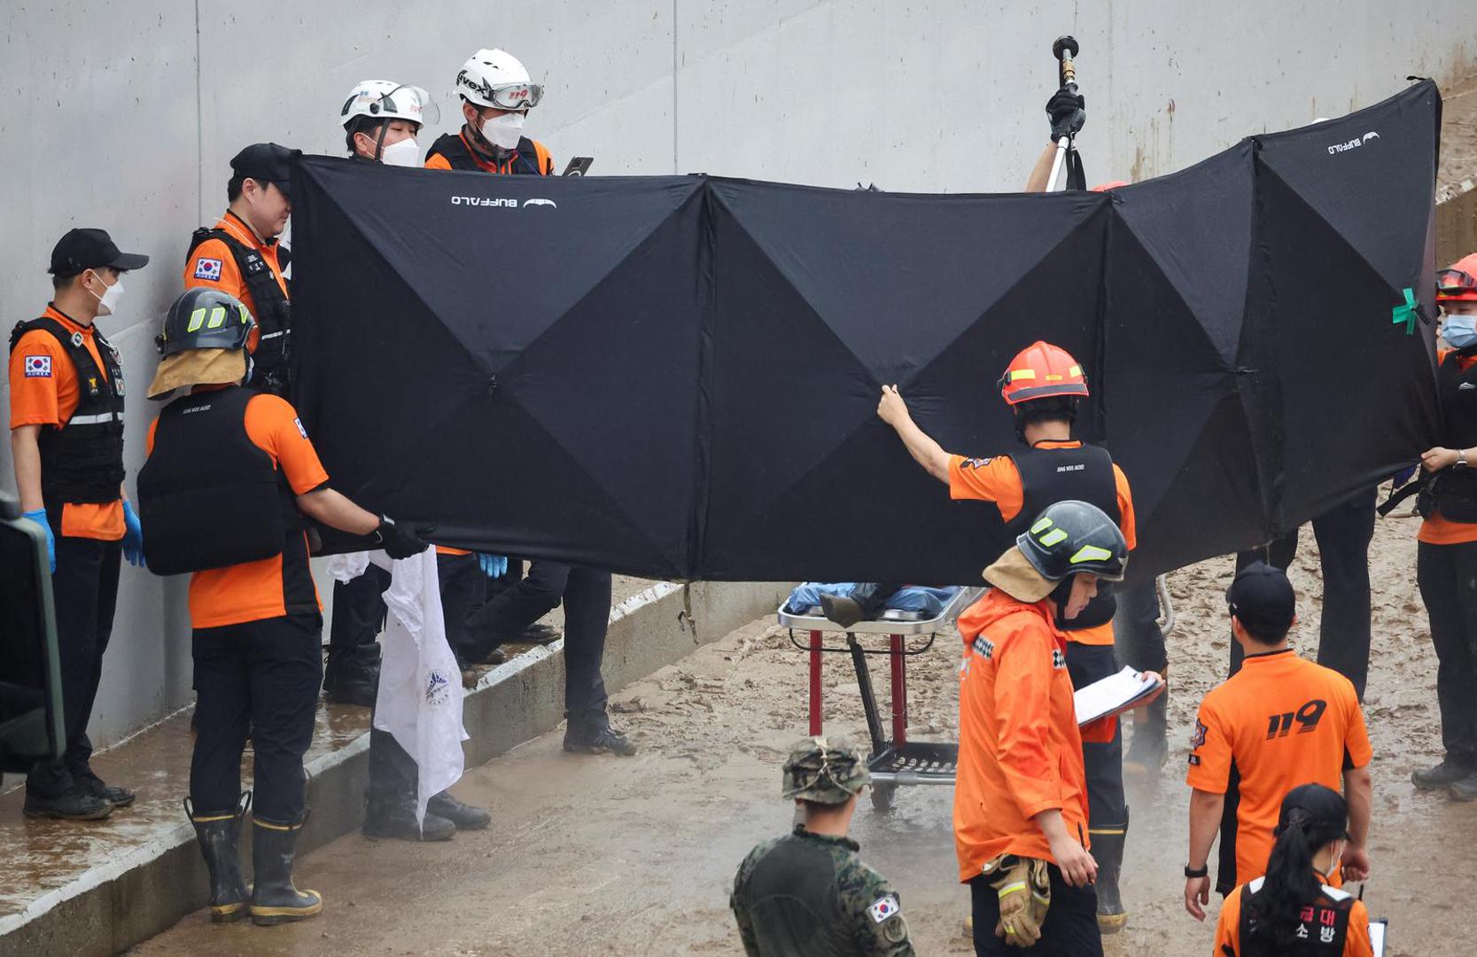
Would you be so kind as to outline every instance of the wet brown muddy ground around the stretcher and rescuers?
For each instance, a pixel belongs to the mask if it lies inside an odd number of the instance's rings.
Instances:
[[[1439,753],[1436,660],[1415,589],[1412,518],[1380,523],[1372,554],[1375,648],[1366,713],[1375,746],[1374,879],[1365,899],[1391,919],[1394,954],[1461,953],[1477,938],[1467,899],[1477,805],[1418,795],[1412,768]],[[1180,905],[1188,792],[1183,765],[1199,697],[1224,673],[1229,558],[1171,576],[1171,759],[1131,783],[1124,896],[1128,929],[1108,954],[1208,953],[1211,927]],[[1310,533],[1292,569],[1300,653],[1317,642],[1317,551]],[[913,731],[950,738],[954,639],[914,659]],[[307,855],[301,886],[322,917],[287,927],[214,927],[204,913],[136,948],[143,956],[227,954],[738,954],[727,910],[750,845],[781,833],[778,761],[805,733],[805,657],[756,622],[616,697],[641,744],[632,759],[573,758],[558,733],[467,774],[456,793],[496,824],[450,843],[346,836]],[[879,682],[886,696],[885,682]],[[864,734],[845,656],[826,668],[827,727]],[[902,789],[889,814],[858,811],[863,852],[902,892],[919,953],[966,954],[967,895],[954,882],[950,789]]]

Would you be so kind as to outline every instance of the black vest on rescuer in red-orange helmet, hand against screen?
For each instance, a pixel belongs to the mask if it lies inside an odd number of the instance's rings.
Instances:
[[[1066,499],[1096,505],[1123,526],[1123,514],[1118,511],[1118,481],[1112,470],[1112,456],[1106,449],[1090,445],[1075,449],[1029,447],[1012,452],[1010,461],[1021,473],[1024,498],[1021,514],[1009,526],[1012,535],[1021,535],[1049,505]],[[1056,626],[1065,632],[1096,628],[1111,622],[1117,610],[1118,600],[1105,588],[1081,614],[1071,620],[1058,620]]]

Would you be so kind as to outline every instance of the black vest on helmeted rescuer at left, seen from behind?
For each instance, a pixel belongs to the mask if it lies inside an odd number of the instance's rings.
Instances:
[[[182,396],[160,414],[139,471],[143,557],[182,574],[301,551],[303,521],[287,478],[247,434],[256,393],[229,387]],[[288,608],[291,611],[291,608]]]

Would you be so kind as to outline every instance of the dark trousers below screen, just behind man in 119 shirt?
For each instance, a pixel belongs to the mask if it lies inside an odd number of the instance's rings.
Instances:
[[[1323,617],[1317,632],[1317,663],[1353,682],[1360,700],[1369,676],[1369,541],[1375,533],[1377,489],[1360,492],[1313,520],[1313,538],[1323,567]],[[1236,555],[1236,570],[1257,561],[1279,569],[1292,564],[1298,533]],[[1241,670],[1241,645],[1230,642],[1230,672]]]

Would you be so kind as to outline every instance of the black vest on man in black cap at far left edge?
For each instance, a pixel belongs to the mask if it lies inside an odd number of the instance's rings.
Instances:
[[[18,322],[10,332],[10,351],[31,329],[50,332],[77,369],[77,411],[61,428],[46,427],[37,436],[41,450],[41,498],[47,510],[64,502],[117,502],[123,483],[123,365],[102,332],[93,329],[103,368],[87,350],[81,332],[41,316]],[[106,372],[106,375],[103,375]]]

